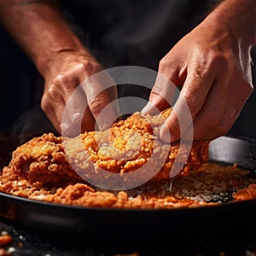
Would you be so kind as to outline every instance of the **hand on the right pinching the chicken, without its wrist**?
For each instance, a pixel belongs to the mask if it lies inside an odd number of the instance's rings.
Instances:
[[[221,23],[220,20],[218,22]],[[180,95],[188,104],[195,139],[211,140],[224,135],[236,121],[247,97],[253,91],[250,47],[212,20],[206,20],[184,38],[160,61],[159,73],[176,85],[183,85]],[[156,79],[143,113],[153,107],[167,108],[172,90]],[[175,106],[182,106],[182,97]],[[177,112],[176,112],[177,111]],[[177,116],[182,108],[172,111],[160,136],[166,143],[180,138]],[[186,124],[187,127],[191,124]]]

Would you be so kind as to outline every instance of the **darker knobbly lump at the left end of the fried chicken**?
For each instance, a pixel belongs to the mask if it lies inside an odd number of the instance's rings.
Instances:
[[[16,148],[9,166],[17,175],[32,182],[55,183],[79,179],[64,154],[62,138],[51,133],[35,137]]]

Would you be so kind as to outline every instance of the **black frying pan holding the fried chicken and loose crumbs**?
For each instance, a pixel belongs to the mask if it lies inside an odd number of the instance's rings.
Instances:
[[[237,138],[220,137],[210,144],[210,159],[235,162],[256,169],[256,144]],[[22,227],[56,236],[125,237],[125,242],[144,237],[195,239],[197,236],[251,234],[256,239],[256,201],[241,201],[214,207],[166,210],[121,210],[73,207],[32,201],[0,193],[0,214]],[[132,234],[132,235],[131,235]],[[215,235],[211,235],[215,236]],[[127,238],[128,237],[128,238]],[[127,240],[128,239],[128,240]]]

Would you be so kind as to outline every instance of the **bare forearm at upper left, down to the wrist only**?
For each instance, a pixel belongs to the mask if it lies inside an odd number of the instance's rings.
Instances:
[[[65,61],[66,53],[90,56],[63,20],[56,1],[0,0],[0,17],[43,76],[54,72],[53,62]]]

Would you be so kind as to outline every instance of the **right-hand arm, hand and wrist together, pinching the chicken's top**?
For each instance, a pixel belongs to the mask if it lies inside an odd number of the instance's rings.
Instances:
[[[230,131],[253,92],[253,8],[254,0],[223,1],[161,59],[160,76],[142,112],[168,108],[174,84],[181,85],[174,111],[160,129],[165,143],[190,139],[192,131],[195,140],[213,140]]]

